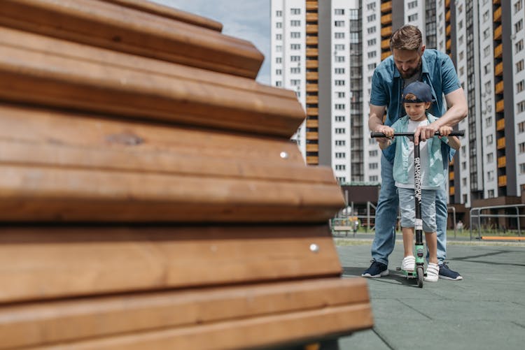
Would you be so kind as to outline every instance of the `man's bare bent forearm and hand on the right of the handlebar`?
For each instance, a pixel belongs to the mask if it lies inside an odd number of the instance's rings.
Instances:
[[[465,93],[463,88],[454,90],[453,92],[444,96],[447,101],[449,109],[440,118],[437,118],[435,122],[428,124],[427,126],[420,126],[414,132],[414,144],[419,143],[419,138],[424,141],[434,136],[436,131],[439,131],[441,126],[454,126],[461,122],[468,114],[467,100],[465,99]],[[370,124],[370,122],[369,122]]]

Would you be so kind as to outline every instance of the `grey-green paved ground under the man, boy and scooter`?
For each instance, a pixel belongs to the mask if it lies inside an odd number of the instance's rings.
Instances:
[[[339,241],[344,277],[370,265],[370,243]],[[448,255],[463,281],[440,279],[420,289],[395,271],[398,241],[390,275],[368,279],[374,328],[340,339],[341,349],[525,349],[525,244],[449,241]]]

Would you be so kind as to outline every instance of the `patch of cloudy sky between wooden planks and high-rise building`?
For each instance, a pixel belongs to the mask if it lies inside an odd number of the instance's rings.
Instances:
[[[257,81],[269,84],[269,0],[152,0],[223,24],[223,34],[250,41],[262,54]]]

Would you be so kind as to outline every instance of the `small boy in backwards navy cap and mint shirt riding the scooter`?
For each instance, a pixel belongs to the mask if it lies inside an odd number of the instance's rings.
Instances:
[[[398,119],[391,128],[384,133],[392,137],[394,132],[413,132],[418,126],[424,126],[434,122],[436,117],[427,113],[433,102],[430,86],[424,82],[412,82],[402,96],[402,103],[407,115]],[[450,126],[440,127],[440,135],[429,138],[419,143],[421,158],[421,217],[423,219],[423,231],[429,251],[428,266],[425,280],[437,282],[439,278],[439,265],[437,265],[437,238],[435,224],[435,191],[439,189],[445,177],[443,175],[444,162],[442,159],[441,143],[448,143],[450,147],[458,150],[461,142],[455,136],[447,138],[451,133]],[[380,143],[379,147],[384,150],[396,142],[391,138],[388,143]],[[398,187],[399,203],[401,210],[401,227],[403,234],[403,247],[405,258],[401,263],[402,270],[413,271],[416,258],[413,253],[414,245],[414,143],[406,137],[398,138],[395,148],[393,165],[393,178],[395,186]]]

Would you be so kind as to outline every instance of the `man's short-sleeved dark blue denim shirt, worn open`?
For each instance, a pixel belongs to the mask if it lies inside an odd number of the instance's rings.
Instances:
[[[433,49],[426,49],[421,57],[421,80],[430,85],[435,102],[432,103],[428,112],[436,117],[444,115],[446,101],[444,96],[456,91],[461,87],[456,68],[447,54]],[[391,126],[400,117],[403,117],[405,108],[401,103],[403,80],[398,68],[395,67],[393,57],[387,57],[375,68],[372,77],[372,92],[370,104],[386,105],[385,125]],[[381,116],[379,116],[381,117]],[[450,150],[450,157],[454,155],[448,145],[444,151]],[[395,145],[383,150],[388,161],[393,161]]]

